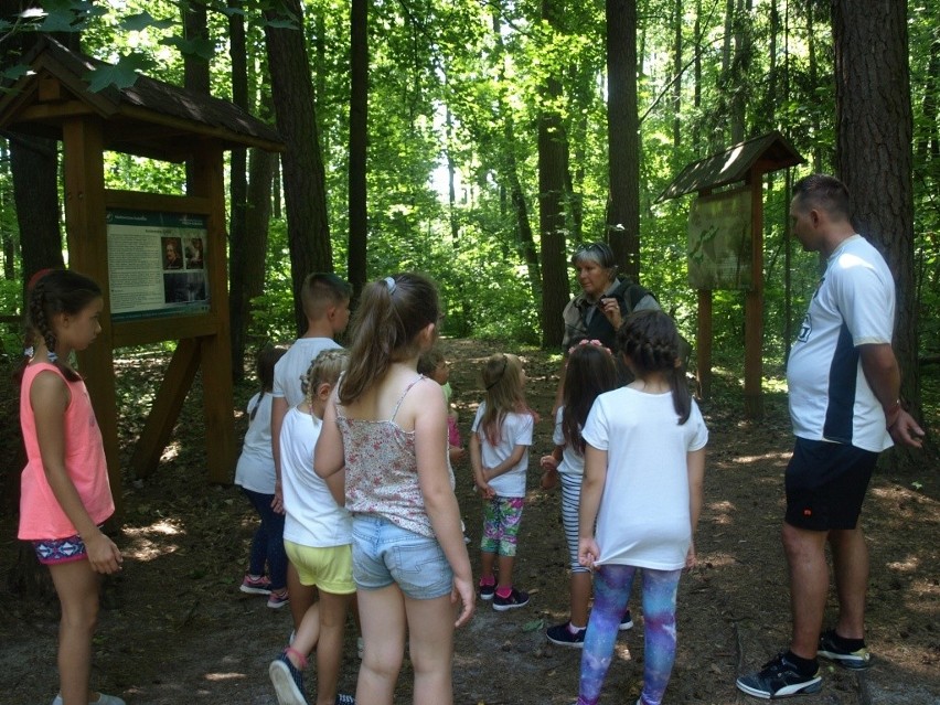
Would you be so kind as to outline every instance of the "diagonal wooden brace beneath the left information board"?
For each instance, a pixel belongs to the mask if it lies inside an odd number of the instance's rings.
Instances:
[[[183,402],[199,370],[199,342],[184,338],[177,345],[170,366],[163,375],[153,406],[140,432],[130,458],[133,477],[147,478],[160,464],[160,457],[170,440],[173,426],[183,408]],[[206,437],[209,438],[206,427]]]

